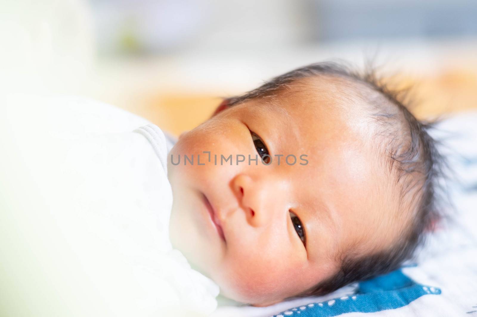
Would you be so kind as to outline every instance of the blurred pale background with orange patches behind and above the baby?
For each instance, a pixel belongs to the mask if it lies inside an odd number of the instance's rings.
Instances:
[[[112,103],[176,135],[207,119],[222,97],[328,59],[358,68],[371,59],[403,86],[415,85],[421,118],[477,108],[476,0],[19,0],[2,7],[10,11],[1,27],[13,43],[1,59],[14,74],[10,82],[25,85],[34,69],[36,83]]]

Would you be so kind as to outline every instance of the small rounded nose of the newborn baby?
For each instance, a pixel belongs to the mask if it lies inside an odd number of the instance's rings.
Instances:
[[[274,192],[271,178],[253,179],[249,175],[239,174],[232,180],[232,190],[251,226],[270,223],[274,213],[288,210],[286,198]]]

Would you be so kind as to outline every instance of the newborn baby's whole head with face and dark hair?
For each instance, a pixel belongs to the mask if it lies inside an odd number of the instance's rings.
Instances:
[[[428,128],[333,63],[227,99],[169,155],[173,245],[257,305],[393,270],[436,212]]]

